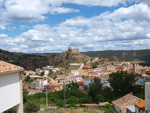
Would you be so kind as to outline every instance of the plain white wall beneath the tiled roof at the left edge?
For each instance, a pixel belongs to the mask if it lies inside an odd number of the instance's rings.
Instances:
[[[19,72],[0,75],[0,113],[20,103]]]

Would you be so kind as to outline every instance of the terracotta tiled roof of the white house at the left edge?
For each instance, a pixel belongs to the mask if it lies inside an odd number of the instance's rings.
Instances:
[[[0,60],[0,74],[9,73],[9,72],[16,72],[16,71],[23,71],[22,67],[16,66],[14,64],[10,64]]]

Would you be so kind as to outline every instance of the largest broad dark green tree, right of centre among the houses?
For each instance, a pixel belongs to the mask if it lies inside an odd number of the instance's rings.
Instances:
[[[117,71],[109,75],[109,82],[114,92],[125,95],[133,90],[136,76],[137,74],[128,74],[127,71]]]

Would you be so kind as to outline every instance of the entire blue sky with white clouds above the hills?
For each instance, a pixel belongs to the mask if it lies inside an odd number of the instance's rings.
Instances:
[[[150,49],[150,0],[0,0],[0,49]]]

